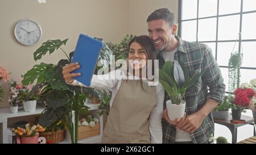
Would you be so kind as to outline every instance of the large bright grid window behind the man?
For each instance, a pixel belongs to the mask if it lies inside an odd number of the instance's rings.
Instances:
[[[178,34],[209,45],[228,90],[228,59],[233,49],[243,52],[241,83],[255,78],[255,19],[255,0],[179,0]]]

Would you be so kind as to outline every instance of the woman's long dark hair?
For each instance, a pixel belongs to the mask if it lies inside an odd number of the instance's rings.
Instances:
[[[152,60],[152,76],[154,76],[154,74],[155,74],[154,60],[156,59],[156,56],[155,56],[155,47],[154,47],[154,44],[152,43],[150,37],[148,37],[147,35],[135,36],[133,39],[131,39],[131,41],[129,43],[129,49],[130,49],[131,44],[134,42],[138,43],[142,46],[142,48],[146,52],[147,60]]]

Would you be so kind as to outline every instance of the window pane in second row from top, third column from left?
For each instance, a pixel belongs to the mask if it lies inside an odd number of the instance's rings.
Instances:
[[[240,15],[220,17],[218,20],[218,40],[236,40],[239,26]]]

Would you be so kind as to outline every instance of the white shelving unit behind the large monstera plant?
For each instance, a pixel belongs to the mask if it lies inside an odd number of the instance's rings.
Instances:
[[[92,103],[86,103],[86,106],[90,107],[90,111],[95,116],[100,120],[100,135],[93,136],[93,137],[88,137],[86,139],[79,140],[78,143],[100,143],[101,141],[101,136],[103,133],[103,116],[98,116],[98,106],[100,104],[92,104]],[[7,137],[7,124],[8,124],[8,119],[10,118],[16,118],[16,117],[22,117],[22,116],[31,116],[31,115],[37,115],[41,114],[42,111],[44,110],[44,107],[37,106],[35,112],[25,112],[24,110],[18,111],[16,114],[12,114],[10,112],[10,108],[0,108],[0,144],[6,144],[9,143],[8,137]],[[69,137],[69,132],[65,131],[65,140],[62,141],[61,143],[71,143],[70,137]]]

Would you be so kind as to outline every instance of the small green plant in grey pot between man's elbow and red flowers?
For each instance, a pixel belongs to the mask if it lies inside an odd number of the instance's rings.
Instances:
[[[232,103],[228,100],[228,96],[225,96],[223,102],[218,104],[218,106],[212,111],[213,118],[228,120],[231,104]]]

